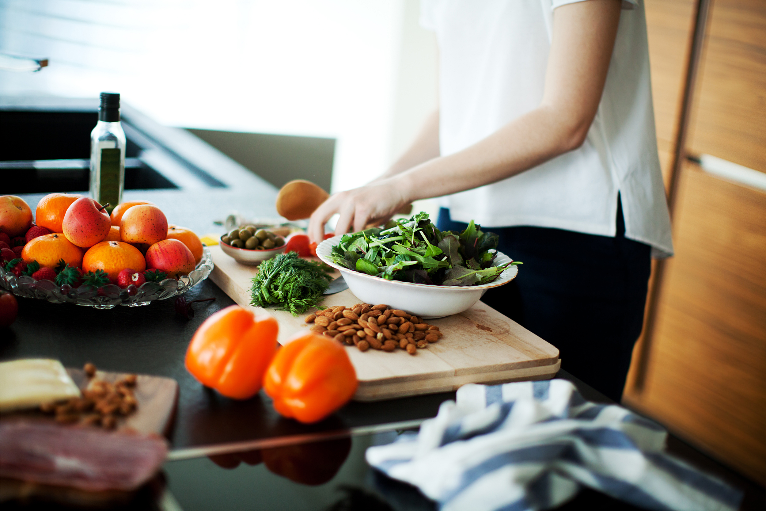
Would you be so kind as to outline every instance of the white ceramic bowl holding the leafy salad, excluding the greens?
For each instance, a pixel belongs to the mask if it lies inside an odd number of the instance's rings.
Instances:
[[[509,283],[519,273],[519,267],[509,266],[495,280],[480,286],[432,286],[385,280],[362,272],[349,270],[330,259],[332,246],[339,244],[340,236],[330,237],[316,247],[316,255],[340,271],[349,289],[359,300],[366,303],[385,303],[394,309],[424,318],[439,318],[462,313],[478,302],[486,290]],[[511,260],[502,252],[497,253],[494,264],[499,266]]]

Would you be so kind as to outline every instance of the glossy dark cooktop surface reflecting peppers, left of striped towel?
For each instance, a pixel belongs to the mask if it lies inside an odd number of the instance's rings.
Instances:
[[[171,461],[163,467],[169,492],[163,506],[177,504],[184,511],[437,509],[414,486],[390,480],[365,462],[367,447],[388,444],[397,435],[391,431]]]

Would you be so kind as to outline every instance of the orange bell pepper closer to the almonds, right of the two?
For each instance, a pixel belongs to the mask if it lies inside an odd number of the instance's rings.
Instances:
[[[356,372],[338,342],[299,332],[282,346],[264,377],[264,390],[284,417],[316,422],[345,405],[356,391]]]

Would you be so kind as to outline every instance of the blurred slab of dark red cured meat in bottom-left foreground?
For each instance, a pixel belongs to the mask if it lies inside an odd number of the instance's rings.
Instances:
[[[0,421],[0,477],[81,490],[134,490],[167,455],[152,435],[67,427],[36,421]]]

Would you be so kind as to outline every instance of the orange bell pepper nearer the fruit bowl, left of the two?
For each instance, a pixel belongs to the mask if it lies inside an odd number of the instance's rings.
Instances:
[[[277,319],[232,305],[202,323],[186,351],[186,369],[234,399],[257,394],[277,351]]]

